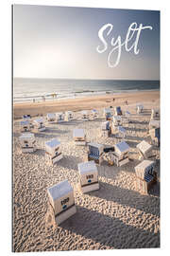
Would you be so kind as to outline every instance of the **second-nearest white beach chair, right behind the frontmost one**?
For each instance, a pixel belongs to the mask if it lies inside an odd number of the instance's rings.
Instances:
[[[82,192],[92,192],[99,189],[98,170],[94,161],[79,163],[78,172]]]

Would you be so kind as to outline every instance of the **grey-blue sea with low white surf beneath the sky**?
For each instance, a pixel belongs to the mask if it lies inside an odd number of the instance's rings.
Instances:
[[[160,90],[160,81],[153,80],[73,80],[13,79],[14,102],[40,102],[75,99],[122,92]]]

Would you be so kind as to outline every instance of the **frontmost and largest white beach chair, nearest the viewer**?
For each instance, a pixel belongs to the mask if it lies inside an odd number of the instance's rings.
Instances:
[[[47,194],[58,225],[76,213],[74,190],[68,180],[48,188]]]

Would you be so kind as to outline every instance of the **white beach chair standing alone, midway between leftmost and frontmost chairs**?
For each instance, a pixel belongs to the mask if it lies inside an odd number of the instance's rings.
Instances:
[[[60,142],[57,138],[45,142],[45,157],[47,162],[52,165],[62,158]]]

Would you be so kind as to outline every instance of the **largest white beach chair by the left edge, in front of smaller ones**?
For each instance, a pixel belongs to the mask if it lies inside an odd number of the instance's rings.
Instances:
[[[37,150],[34,134],[26,133],[19,137],[23,153],[33,153]]]

